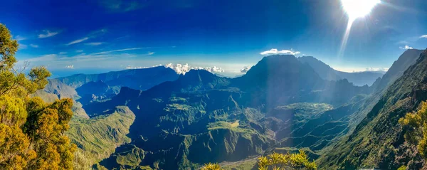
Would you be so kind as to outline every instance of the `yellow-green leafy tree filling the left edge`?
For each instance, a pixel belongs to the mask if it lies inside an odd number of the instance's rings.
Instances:
[[[0,23],[0,169],[73,169],[75,145],[65,136],[73,101],[45,103],[29,97],[51,73],[36,67],[16,70],[19,44]]]

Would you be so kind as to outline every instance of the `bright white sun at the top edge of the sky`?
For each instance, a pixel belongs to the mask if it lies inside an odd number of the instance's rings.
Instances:
[[[379,0],[341,0],[342,7],[350,20],[367,16],[379,3]]]

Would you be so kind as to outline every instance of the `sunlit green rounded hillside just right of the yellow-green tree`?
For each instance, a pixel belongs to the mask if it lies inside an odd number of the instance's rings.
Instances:
[[[130,142],[126,135],[135,119],[127,107],[116,107],[107,115],[84,119],[75,117],[67,134],[92,165],[107,158],[121,144]]]

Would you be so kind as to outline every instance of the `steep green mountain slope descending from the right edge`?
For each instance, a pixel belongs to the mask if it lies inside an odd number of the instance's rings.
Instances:
[[[319,159],[324,169],[409,169],[424,166],[415,147],[404,142],[398,120],[427,100],[427,51],[382,95],[354,132]]]

